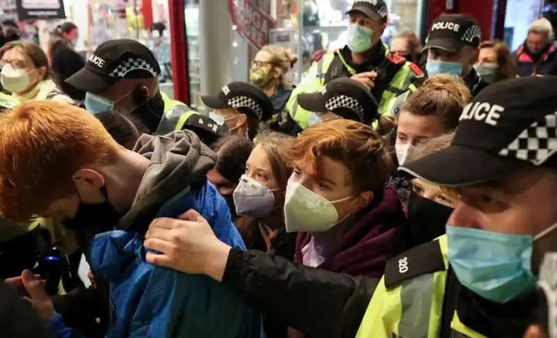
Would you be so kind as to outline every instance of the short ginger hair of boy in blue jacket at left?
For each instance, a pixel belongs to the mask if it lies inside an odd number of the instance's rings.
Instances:
[[[0,214],[28,220],[75,192],[72,175],[116,160],[120,145],[84,109],[53,101],[0,115]]]

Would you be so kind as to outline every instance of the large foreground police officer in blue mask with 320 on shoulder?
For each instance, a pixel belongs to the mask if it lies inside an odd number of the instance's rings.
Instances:
[[[489,86],[464,108],[450,147],[401,168],[460,203],[446,235],[386,264],[357,338],[524,335],[540,261],[557,249],[556,85]]]

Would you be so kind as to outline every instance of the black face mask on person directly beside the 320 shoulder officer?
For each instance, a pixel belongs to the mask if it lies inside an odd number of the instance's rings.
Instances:
[[[452,213],[453,208],[410,191],[408,232],[411,246],[419,246],[445,234],[446,223]]]

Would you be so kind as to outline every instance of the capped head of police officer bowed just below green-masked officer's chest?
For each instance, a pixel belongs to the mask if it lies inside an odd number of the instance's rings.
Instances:
[[[310,127],[335,117],[364,124],[371,124],[379,118],[377,100],[369,88],[348,78],[335,79],[320,92],[300,94],[297,99],[301,108],[311,111]]]

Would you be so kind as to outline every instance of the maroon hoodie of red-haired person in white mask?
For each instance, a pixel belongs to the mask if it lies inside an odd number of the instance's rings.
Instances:
[[[319,268],[348,275],[381,277],[386,261],[407,249],[403,229],[407,220],[395,189],[386,187],[382,199],[361,211],[342,239],[340,249]],[[301,248],[311,235],[298,235],[295,261],[302,262]]]

